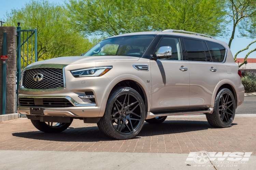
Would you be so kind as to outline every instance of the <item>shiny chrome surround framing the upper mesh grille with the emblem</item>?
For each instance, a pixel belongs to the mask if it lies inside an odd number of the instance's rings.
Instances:
[[[47,91],[59,91],[59,90],[64,90],[66,88],[66,76],[65,76],[65,68],[67,65],[64,64],[38,64],[38,65],[30,65],[27,66],[23,71],[22,71],[22,78],[20,81],[20,90],[22,91],[31,91],[31,92],[47,92]],[[63,72],[63,87],[59,88],[51,88],[51,89],[29,89],[25,88],[23,86],[23,73],[26,70],[33,69],[33,68],[62,68]]]

